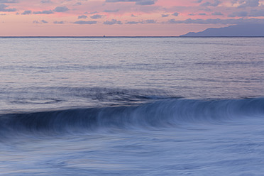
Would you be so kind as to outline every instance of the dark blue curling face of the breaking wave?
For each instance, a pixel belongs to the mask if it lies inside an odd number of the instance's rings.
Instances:
[[[131,106],[2,114],[1,133],[65,133],[121,129],[178,128],[264,117],[264,99],[163,99]]]

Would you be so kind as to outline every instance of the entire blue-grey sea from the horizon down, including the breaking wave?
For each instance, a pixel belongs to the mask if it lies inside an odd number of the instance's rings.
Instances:
[[[264,173],[264,38],[0,38],[0,175]]]

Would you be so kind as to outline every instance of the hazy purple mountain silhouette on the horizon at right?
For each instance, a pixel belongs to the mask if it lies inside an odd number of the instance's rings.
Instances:
[[[207,28],[198,33],[190,32],[180,37],[263,37],[264,24],[243,24],[225,28]]]

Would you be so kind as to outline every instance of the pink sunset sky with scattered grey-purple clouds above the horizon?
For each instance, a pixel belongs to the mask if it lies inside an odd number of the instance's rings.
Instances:
[[[177,36],[264,23],[264,0],[0,0],[0,36]]]

